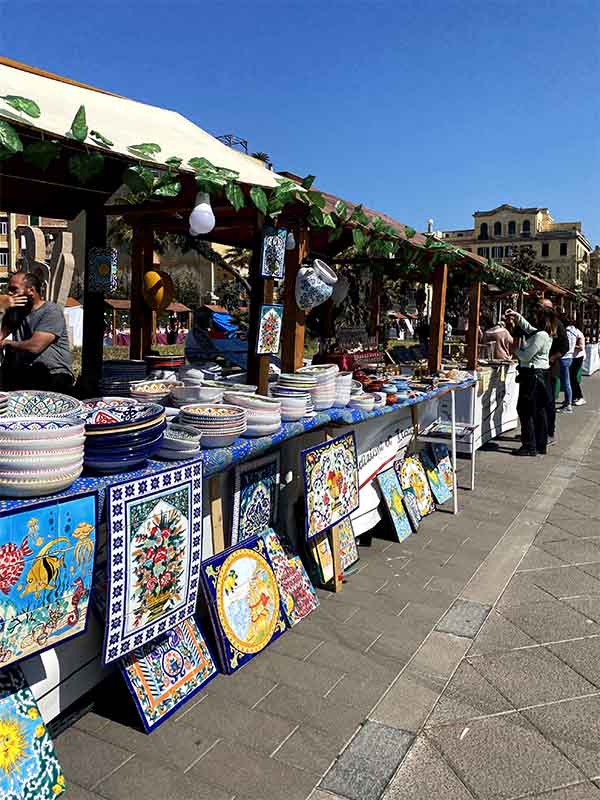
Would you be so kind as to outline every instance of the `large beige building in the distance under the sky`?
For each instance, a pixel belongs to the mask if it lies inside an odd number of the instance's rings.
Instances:
[[[484,258],[510,263],[515,248],[529,245],[545,276],[569,289],[598,288],[598,272],[590,267],[592,247],[581,222],[555,222],[547,208],[504,204],[475,211],[474,227],[441,231],[440,238]]]

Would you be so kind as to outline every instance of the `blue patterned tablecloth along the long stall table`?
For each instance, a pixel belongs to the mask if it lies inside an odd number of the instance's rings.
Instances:
[[[213,450],[201,450],[199,455],[195,456],[196,460],[202,459],[204,477],[208,478],[211,475],[216,475],[223,472],[228,467],[238,464],[241,461],[248,461],[261,453],[266,452],[274,445],[284,442],[287,439],[293,439],[295,436],[301,436],[307,431],[315,430],[315,428],[322,428],[329,424],[339,425],[353,425],[365,422],[373,417],[382,417],[387,414],[393,414],[408,406],[415,406],[419,403],[425,403],[429,400],[446,394],[451,390],[468,389],[473,386],[475,380],[464,381],[463,383],[451,384],[435,389],[432,392],[421,395],[413,400],[405,400],[402,403],[396,403],[392,406],[385,406],[384,408],[376,408],[373,411],[359,411],[355,408],[330,408],[327,411],[320,411],[314,417],[303,419],[300,422],[284,422],[281,430],[273,434],[273,436],[261,436],[258,439],[238,439],[231,447],[218,447]],[[132,478],[142,478],[146,475],[152,475],[160,470],[169,469],[177,465],[185,463],[184,461],[159,461],[151,460],[146,463],[144,467],[138,470],[130,470],[122,473],[111,473],[109,475],[95,475],[88,472],[78,478],[68,489],[59,492],[52,497],[69,497],[72,495],[87,492],[91,489],[98,492],[98,508],[104,509],[104,496],[107,486],[110,484],[119,483],[119,481],[131,480]],[[15,499],[15,500],[0,500],[0,511],[6,511],[12,508],[18,508],[34,503],[39,498]],[[51,499],[51,498],[44,498]]]

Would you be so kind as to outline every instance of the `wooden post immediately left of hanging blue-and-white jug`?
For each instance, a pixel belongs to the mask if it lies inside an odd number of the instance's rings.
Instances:
[[[296,247],[285,254],[285,282],[283,287],[283,331],[281,366],[283,372],[295,372],[304,358],[305,313],[296,305],[296,275],[308,255],[308,230],[296,233]]]

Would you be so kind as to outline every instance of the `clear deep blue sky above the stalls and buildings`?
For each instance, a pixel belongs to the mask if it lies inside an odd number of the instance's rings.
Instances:
[[[508,202],[600,242],[598,0],[0,0],[0,16],[3,54],[235,133],[418,229]]]

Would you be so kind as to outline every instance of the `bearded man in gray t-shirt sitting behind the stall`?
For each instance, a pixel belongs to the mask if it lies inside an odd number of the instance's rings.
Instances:
[[[15,272],[9,295],[24,295],[23,308],[8,311],[2,320],[3,383],[6,388],[69,392],[73,388],[71,350],[64,314],[56,303],[42,299],[37,275]],[[6,337],[12,334],[12,339]]]

